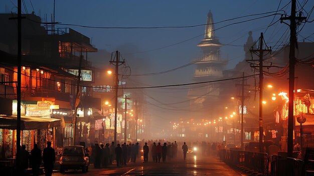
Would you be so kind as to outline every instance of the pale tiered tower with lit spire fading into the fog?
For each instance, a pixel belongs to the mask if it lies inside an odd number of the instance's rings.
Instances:
[[[203,56],[195,60],[194,82],[215,81],[223,77],[224,66],[227,60],[221,59],[220,48],[223,46],[215,36],[213,14],[207,15],[205,27],[205,38],[197,45],[202,49]],[[202,86],[202,87],[200,87]],[[188,97],[192,100],[191,106],[201,109],[212,107],[220,95],[219,84],[206,83],[192,85],[188,92]]]

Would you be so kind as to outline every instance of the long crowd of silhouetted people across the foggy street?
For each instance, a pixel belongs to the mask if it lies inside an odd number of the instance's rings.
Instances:
[[[223,144],[218,142],[206,143],[206,142],[170,142],[163,140],[148,140],[146,142],[141,141],[136,143],[115,143],[112,141],[109,143],[96,143],[90,144],[86,147],[86,152],[90,156],[90,163],[94,163],[95,168],[108,167],[113,161],[116,161],[116,165],[126,165],[129,162],[136,162],[138,157],[143,157],[143,162],[148,160],[153,162],[166,162],[167,160],[178,159],[178,153],[180,153],[179,159],[186,159],[187,152],[189,152],[189,146],[197,146],[202,155],[216,155],[219,150],[224,147]],[[191,150],[190,150],[191,151]],[[182,154],[181,154],[182,153]],[[182,158],[181,158],[182,157]]]

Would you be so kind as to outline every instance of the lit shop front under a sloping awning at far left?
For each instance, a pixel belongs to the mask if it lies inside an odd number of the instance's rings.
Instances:
[[[21,116],[21,143],[27,150],[37,143],[41,149],[47,141],[55,143],[55,127],[60,126],[61,120],[55,118]],[[0,150],[1,158],[14,158],[17,142],[17,116],[0,116]]]

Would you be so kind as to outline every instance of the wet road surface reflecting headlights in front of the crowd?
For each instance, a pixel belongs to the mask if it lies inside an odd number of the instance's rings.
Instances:
[[[147,163],[140,159],[136,163],[128,163],[126,166],[116,167],[116,164],[108,168],[94,169],[90,165],[87,173],[81,170],[69,170],[65,173],[55,172],[53,175],[245,175],[239,170],[234,170],[218,157],[187,155],[187,160],[166,160],[165,163],[155,163],[149,158]]]

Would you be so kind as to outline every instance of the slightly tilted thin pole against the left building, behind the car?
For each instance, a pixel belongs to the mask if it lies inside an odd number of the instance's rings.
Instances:
[[[76,128],[77,128],[77,108],[80,103],[81,99],[81,92],[80,92],[80,83],[81,83],[81,67],[82,67],[82,51],[81,51],[81,58],[79,62],[79,70],[78,70],[78,75],[77,75],[77,86],[76,86],[76,99],[75,99],[75,110],[74,110],[74,127],[73,127],[73,145],[75,145],[76,142]]]

